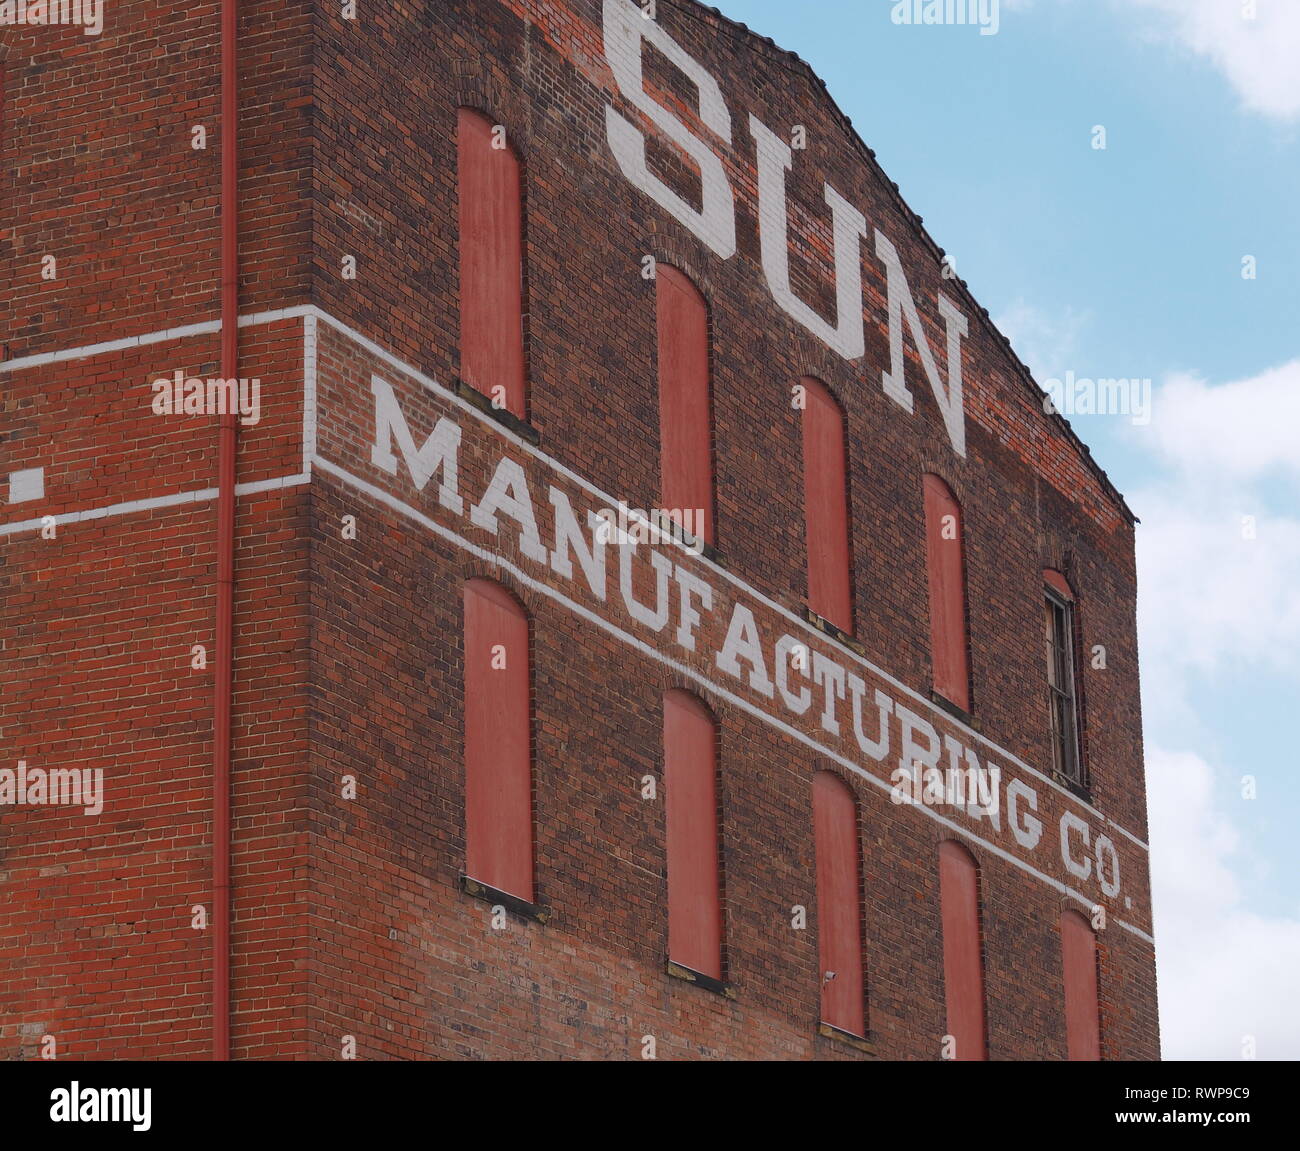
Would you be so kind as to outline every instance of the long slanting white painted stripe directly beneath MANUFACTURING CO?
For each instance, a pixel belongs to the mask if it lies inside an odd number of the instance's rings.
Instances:
[[[455,544],[463,551],[468,551],[471,555],[474,555],[478,559],[482,559],[482,561],[493,563],[493,564],[495,564],[498,567],[506,568],[521,584],[525,584],[526,587],[532,588],[533,590],[538,592],[540,594],[546,596],[549,600],[554,600],[556,603],[562,605],[563,607],[567,607],[575,615],[578,615],[582,619],[588,620],[589,623],[595,624],[601,629],[607,631],[615,639],[621,640],[624,644],[627,644],[630,648],[634,648],[637,652],[640,652],[646,658],[654,659],[656,663],[662,663],[664,667],[672,668],[679,675],[682,675],[686,679],[694,680],[701,687],[706,688],[712,695],[715,695],[718,698],[727,700],[728,704],[732,704],[733,706],[740,708],[742,711],[748,711],[750,715],[753,715],[757,719],[760,719],[763,723],[767,723],[771,727],[775,727],[777,731],[781,731],[783,734],[790,736],[792,739],[798,740],[801,744],[806,745],[807,748],[810,748],[811,750],[814,750],[816,754],[824,756],[828,760],[833,760],[841,767],[844,767],[848,771],[852,771],[854,775],[861,776],[867,783],[870,783],[872,787],[876,787],[876,788],[879,788],[880,791],[884,791],[884,792],[892,792],[893,791],[893,788],[892,788],[892,786],[889,784],[888,780],[876,778],[870,771],[867,771],[866,769],[861,767],[858,763],[854,763],[852,760],[846,760],[842,756],[840,756],[832,748],[828,748],[828,747],[826,747],[823,744],[819,744],[815,739],[812,739],[812,736],[806,735],[805,732],[798,731],[794,727],[790,727],[789,724],[786,724],[783,721],[777,719],[775,715],[770,714],[768,711],[764,711],[762,708],[758,708],[758,706],[750,704],[748,700],[744,700],[740,696],[732,695],[732,692],[727,691],[723,687],[719,687],[711,679],[708,679],[705,675],[701,675],[698,671],[696,671],[694,668],[686,666],[685,663],[679,663],[676,659],[672,659],[668,655],[664,655],[656,648],[653,648],[650,644],[645,642],[644,640],[637,639],[634,635],[623,631],[623,628],[618,627],[614,623],[610,623],[607,619],[603,619],[602,616],[597,615],[594,611],[589,611],[581,603],[576,603],[575,601],[572,601],[567,596],[564,596],[562,592],[558,592],[554,588],[551,588],[549,584],[546,584],[546,583],[543,583],[541,580],[533,579],[533,576],[530,576],[526,571],[524,571],[523,568],[520,568],[517,564],[511,563],[508,559],[498,555],[494,551],[490,551],[486,548],[480,548],[477,544],[472,544],[469,540],[464,538],[463,536],[458,535],[456,532],[452,532],[450,528],[442,527],[442,524],[437,523],[436,520],[429,519],[429,516],[426,516],[422,512],[417,511],[416,509],[411,507],[408,503],[403,503],[400,499],[398,499],[395,496],[391,496],[390,493],[385,492],[382,488],[377,488],[374,484],[369,484],[365,480],[361,480],[358,476],[354,476],[346,468],[341,468],[337,464],[330,463],[328,459],[324,459],[322,456],[316,456],[316,459],[313,460],[313,463],[321,471],[324,471],[324,472],[326,472],[326,473],[329,473],[332,476],[337,476],[339,480],[342,480],[344,484],[348,484],[350,486],[355,488],[358,492],[361,492],[365,496],[369,496],[372,499],[376,499],[377,502],[384,503],[387,507],[393,509],[394,511],[396,511],[396,512],[407,516],[408,519],[413,520],[420,527],[425,528],[426,531],[432,532],[433,535],[441,536],[447,542]],[[1053,879],[1050,875],[1044,874],[1037,867],[1034,867],[1030,864],[1026,864],[1023,860],[1018,860],[1015,856],[1013,856],[1010,852],[1000,848],[997,844],[989,843],[987,839],[982,839],[980,836],[974,835],[971,831],[968,831],[967,828],[962,827],[959,823],[954,823],[952,819],[946,819],[944,815],[940,815],[933,808],[927,808],[924,805],[914,805],[914,804],[907,804],[907,805],[900,804],[898,806],[900,806],[900,809],[901,808],[910,808],[911,810],[916,810],[916,812],[923,813],[924,815],[928,815],[931,819],[935,819],[936,822],[941,823],[944,827],[946,827],[950,831],[954,831],[956,834],[961,835],[963,839],[971,840],[972,843],[978,843],[982,848],[992,852],[998,858],[1005,860],[1006,862],[1011,864],[1013,866],[1018,867],[1019,870],[1022,870],[1022,871],[1024,871],[1024,873],[1027,873],[1030,875],[1034,875],[1036,879],[1041,880],[1043,883],[1046,883],[1049,887],[1054,888],[1061,895],[1070,896],[1071,899],[1082,903],[1084,906],[1092,908],[1097,903],[1095,899],[1089,899],[1088,896],[1083,895],[1082,892],[1078,892],[1074,888],[1067,887],[1065,883],[1061,883],[1058,879]],[[1124,922],[1123,919],[1119,919],[1119,918],[1113,918],[1113,922],[1118,923],[1126,931],[1132,933],[1139,939],[1144,939],[1144,940],[1147,940],[1150,944],[1154,944],[1154,942],[1156,942],[1150,935],[1148,935],[1140,927],[1134,926],[1132,923],[1127,923],[1127,922]]]

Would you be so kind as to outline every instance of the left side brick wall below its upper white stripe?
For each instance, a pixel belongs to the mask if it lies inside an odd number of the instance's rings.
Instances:
[[[246,332],[266,394],[240,479],[300,467],[300,328]],[[192,918],[212,897],[216,436],[207,417],[155,415],[150,382],[216,362],[217,337],[199,336],[0,373],[13,433],[0,470],[46,468],[43,501],[4,506],[4,766],[100,769],[104,788],[98,815],[0,808],[5,1057],[39,1055],[46,1035],[60,1057],[211,1051],[209,933]],[[304,490],[250,494],[238,514],[235,1035],[264,1056],[292,1050],[300,1013]],[[191,666],[195,645],[207,668]]]

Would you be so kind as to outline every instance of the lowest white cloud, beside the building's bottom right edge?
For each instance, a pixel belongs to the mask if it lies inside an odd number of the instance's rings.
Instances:
[[[1147,793],[1165,1059],[1242,1059],[1248,1037],[1258,1059],[1300,1059],[1300,921],[1242,905],[1240,835],[1204,760],[1149,745]]]

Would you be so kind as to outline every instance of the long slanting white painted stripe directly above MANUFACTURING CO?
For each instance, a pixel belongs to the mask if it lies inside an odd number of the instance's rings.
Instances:
[[[610,496],[607,492],[602,492],[594,484],[592,484],[588,480],[582,479],[582,476],[577,475],[576,472],[569,471],[559,460],[551,459],[551,456],[549,456],[545,451],[541,451],[538,447],[534,447],[530,442],[528,442],[523,437],[516,436],[514,432],[511,432],[503,424],[500,424],[497,420],[491,419],[490,416],[485,415],[477,407],[474,407],[468,401],[462,399],[454,391],[448,390],[447,388],[443,388],[441,384],[438,384],[437,380],[432,378],[430,376],[426,376],[419,368],[413,368],[410,364],[403,363],[395,355],[393,355],[391,352],[385,351],[382,347],[380,347],[377,343],[374,343],[374,341],[368,339],[360,332],[356,332],[355,329],[348,328],[341,320],[335,320],[328,312],[322,312],[320,308],[316,308],[316,307],[313,307],[312,311],[321,320],[324,320],[332,328],[334,328],[335,330],[338,330],[341,334],[346,336],[354,343],[358,343],[361,347],[364,347],[376,359],[384,360],[384,363],[389,364],[390,367],[395,368],[396,371],[402,372],[403,375],[408,376],[410,378],[417,381],[424,388],[426,388],[429,391],[433,391],[434,394],[437,394],[442,399],[447,401],[448,403],[455,404],[462,411],[464,411],[468,415],[473,416],[478,423],[484,424],[486,428],[489,428],[490,430],[495,432],[498,436],[500,436],[502,438],[507,440],[510,443],[514,443],[516,447],[519,447],[520,451],[526,451],[534,459],[542,460],[542,463],[545,463],[547,467],[550,467],[554,471],[559,472],[562,476],[564,476],[566,479],[568,479],[571,483],[577,484],[585,492],[588,492],[589,494],[592,494],[592,496],[597,497],[598,499],[603,501],[610,507],[616,507],[618,506],[618,501],[612,496]],[[680,548],[682,551],[688,551],[689,550],[679,540],[672,538],[668,542],[671,544],[671,546]],[[694,555],[694,553],[690,553],[690,554]],[[755,588],[750,587],[748,583],[745,583],[742,579],[740,579],[738,576],[736,576],[733,572],[729,572],[724,567],[719,567],[716,563],[714,563],[711,559],[708,559],[707,555],[694,555],[694,558],[699,559],[699,561],[702,561],[705,563],[707,563],[714,572],[716,572],[722,579],[724,579],[728,583],[731,583],[732,587],[734,587],[738,590],[744,592],[746,596],[751,597],[753,600],[757,600],[759,603],[763,603],[770,610],[772,610],[772,611],[777,613],[779,615],[784,616],[790,623],[793,623],[797,627],[802,628],[809,635],[819,637],[823,641],[829,641],[831,644],[835,644],[833,640],[829,640],[829,637],[824,632],[820,632],[815,627],[812,627],[812,624],[810,624],[806,619],[803,619],[802,615],[796,615],[788,607],[784,607],[783,605],[775,602],[774,600],[770,600],[767,596],[764,596],[762,592],[757,590]],[[1128,839],[1132,843],[1135,843],[1143,851],[1148,851],[1147,844],[1143,843],[1138,836],[1132,835],[1130,831],[1126,831],[1123,827],[1121,827],[1118,823],[1115,823],[1115,821],[1112,819],[1109,815],[1104,814],[1102,812],[1098,812],[1087,800],[1079,799],[1079,796],[1076,796],[1069,788],[1062,787],[1054,779],[1044,775],[1041,771],[1036,770],[1035,767],[1031,767],[1023,760],[1017,758],[1009,750],[1006,750],[1005,748],[1002,748],[998,744],[993,743],[993,740],[988,739],[984,735],[980,735],[978,731],[975,731],[975,728],[968,727],[967,724],[962,723],[961,719],[958,719],[952,713],[945,711],[942,708],[939,708],[932,700],[927,698],[926,696],[922,696],[919,692],[913,691],[905,683],[894,679],[884,668],[876,667],[876,665],[872,663],[870,659],[866,659],[864,657],[859,655],[857,652],[853,652],[849,648],[845,648],[842,645],[835,644],[835,646],[837,648],[837,650],[840,653],[844,654],[845,658],[852,659],[855,663],[862,665],[868,671],[871,671],[874,675],[879,676],[880,679],[885,680],[892,687],[894,687],[897,691],[900,691],[904,695],[906,695],[910,700],[913,700],[914,702],[918,702],[922,706],[924,706],[932,715],[936,715],[940,719],[942,719],[945,723],[949,723],[949,724],[959,728],[963,732],[963,735],[966,736],[967,740],[974,740],[974,741],[978,741],[978,743],[983,744],[985,748],[988,748],[992,752],[994,752],[997,754],[997,758],[1000,758],[1002,762],[1014,763],[1022,771],[1026,771],[1030,775],[1032,775],[1035,779],[1045,783],[1048,787],[1050,787],[1054,791],[1060,792],[1062,796],[1065,796],[1071,802],[1078,804],[1080,808],[1086,809],[1087,812],[1091,812],[1092,815],[1098,822],[1105,823],[1109,827],[1114,827],[1126,839]]]

